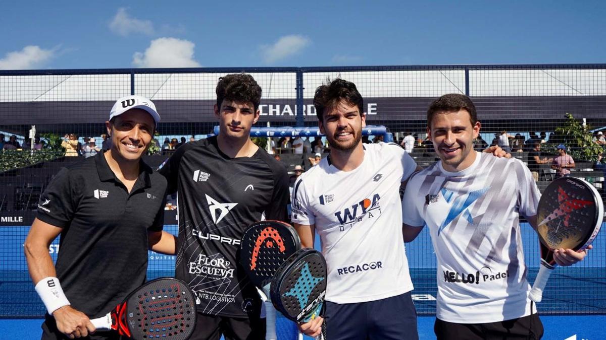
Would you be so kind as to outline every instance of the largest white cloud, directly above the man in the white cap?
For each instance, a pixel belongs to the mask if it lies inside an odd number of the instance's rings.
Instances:
[[[176,38],[159,38],[151,41],[150,47],[144,53],[133,55],[133,65],[136,67],[200,67],[193,59],[191,41]]]

